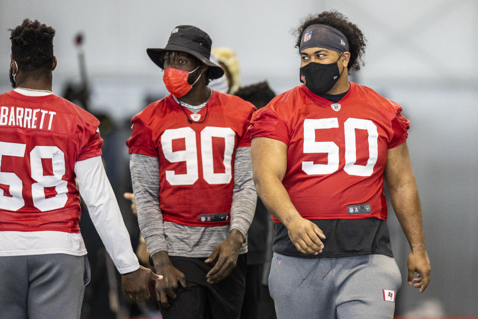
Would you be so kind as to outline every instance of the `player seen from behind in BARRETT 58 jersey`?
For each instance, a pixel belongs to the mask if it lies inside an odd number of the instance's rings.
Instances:
[[[79,319],[90,280],[78,227],[80,193],[125,293],[149,298],[101,160],[98,120],[51,92],[52,27],[11,29],[10,80],[0,95],[0,318]],[[78,186],[77,186],[78,183]]]

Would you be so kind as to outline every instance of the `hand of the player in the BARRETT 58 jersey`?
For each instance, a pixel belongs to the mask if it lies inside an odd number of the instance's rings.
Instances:
[[[161,280],[163,276],[156,275],[149,268],[139,266],[135,271],[121,275],[124,294],[132,300],[142,302],[149,299],[149,280]]]

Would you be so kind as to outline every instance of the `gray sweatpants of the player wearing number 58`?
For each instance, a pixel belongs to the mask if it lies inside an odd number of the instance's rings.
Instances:
[[[0,257],[0,318],[79,319],[90,267],[85,256]]]

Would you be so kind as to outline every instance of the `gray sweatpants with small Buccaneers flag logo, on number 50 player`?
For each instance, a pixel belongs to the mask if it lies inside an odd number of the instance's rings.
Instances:
[[[392,319],[401,276],[392,257],[305,259],[274,253],[269,291],[278,319]]]

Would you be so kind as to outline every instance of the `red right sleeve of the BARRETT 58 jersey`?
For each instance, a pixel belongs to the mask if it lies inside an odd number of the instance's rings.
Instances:
[[[99,125],[100,122],[96,120],[93,125],[85,125],[80,127],[78,134],[80,152],[76,161],[87,160],[101,156],[103,139],[100,137],[100,130],[98,129]]]

